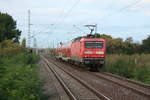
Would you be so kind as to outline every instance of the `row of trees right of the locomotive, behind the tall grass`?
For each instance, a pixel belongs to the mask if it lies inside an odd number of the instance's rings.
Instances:
[[[150,36],[142,40],[142,43],[135,43],[132,37],[126,38],[113,38],[111,35],[95,34],[96,38],[106,39],[107,53],[108,54],[142,54],[150,53]]]

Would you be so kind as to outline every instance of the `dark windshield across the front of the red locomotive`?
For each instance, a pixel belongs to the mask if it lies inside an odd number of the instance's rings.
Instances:
[[[97,42],[97,41],[85,42],[84,45],[85,48],[103,48],[103,42]]]

